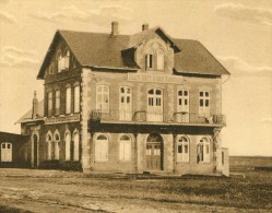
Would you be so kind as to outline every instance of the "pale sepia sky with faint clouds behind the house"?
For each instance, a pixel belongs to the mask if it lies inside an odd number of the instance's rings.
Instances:
[[[232,73],[223,83],[230,155],[272,156],[271,0],[0,0],[0,131],[44,96],[39,67],[57,29],[120,34],[161,26],[174,38],[197,39]]]

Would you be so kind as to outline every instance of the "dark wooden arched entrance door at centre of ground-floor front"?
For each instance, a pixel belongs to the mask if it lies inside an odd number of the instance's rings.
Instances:
[[[163,170],[163,138],[152,133],[146,140],[146,168]]]

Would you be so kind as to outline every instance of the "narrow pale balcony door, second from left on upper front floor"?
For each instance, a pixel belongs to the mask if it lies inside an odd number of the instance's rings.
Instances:
[[[120,87],[120,105],[119,105],[120,120],[131,120],[131,88],[129,86]]]

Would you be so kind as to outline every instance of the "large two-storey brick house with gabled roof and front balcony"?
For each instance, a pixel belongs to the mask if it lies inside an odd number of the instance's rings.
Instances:
[[[197,40],[162,27],[120,35],[57,31],[37,79],[44,107],[20,119],[33,167],[228,175],[222,76]]]

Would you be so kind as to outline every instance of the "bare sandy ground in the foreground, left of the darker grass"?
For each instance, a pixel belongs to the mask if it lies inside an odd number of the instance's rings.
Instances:
[[[153,181],[163,185],[166,180],[86,177],[73,171],[0,168],[0,212],[258,212],[182,203],[180,199],[177,202],[168,199],[168,193],[152,196],[144,188],[129,190],[131,182],[139,181],[141,185],[152,185]]]

